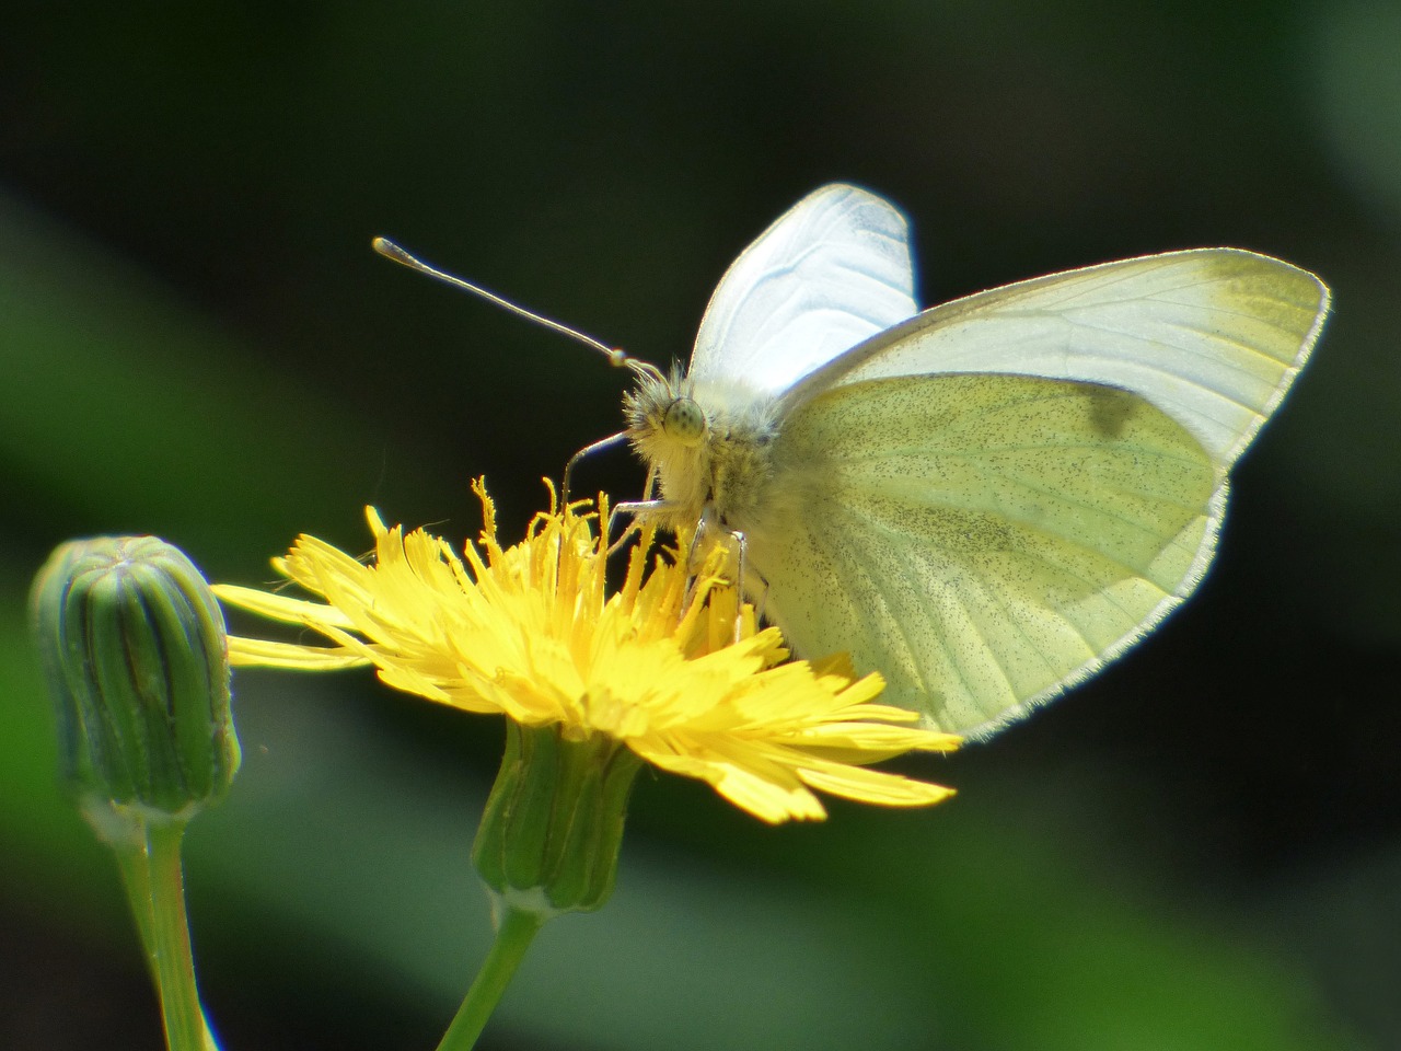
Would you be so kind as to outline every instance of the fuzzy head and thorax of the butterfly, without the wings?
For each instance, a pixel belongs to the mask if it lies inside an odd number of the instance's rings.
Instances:
[[[772,478],[772,399],[744,383],[693,380],[674,369],[640,373],[623,415],[633,450],[660,483],[664,524],[685,528],[706,518],[744,528]]]

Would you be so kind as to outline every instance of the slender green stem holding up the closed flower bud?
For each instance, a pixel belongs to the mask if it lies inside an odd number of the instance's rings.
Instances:
[[[147,897],[150,929],[143,930],[165,1022],[170,1051],[205,1051],[213,1038],[205,1026],[195,984],[195,957],[185,918],[185,876],[181,872],[181,839],[185,825],[151,824],[146,828]],[[133,902],[134,907],[134,902]],[[137,914],[137,925],[142,925]]]

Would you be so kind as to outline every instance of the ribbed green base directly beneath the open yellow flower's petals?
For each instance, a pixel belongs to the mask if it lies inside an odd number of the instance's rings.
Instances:
[[[506,755],[472,845],[476,870],[509,907],[586,912],[612,894],[628,793],[642,760],[612,737],[507,720]]]

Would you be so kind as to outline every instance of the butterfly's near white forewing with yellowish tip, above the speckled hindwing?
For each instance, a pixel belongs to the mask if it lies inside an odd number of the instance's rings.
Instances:
[[[1135,391],[1234,461],[1311,350],[1328,291],[1236,248],[1089,266],[955,300],[855,348],[789,394],[939,373],[1016,373]]]

